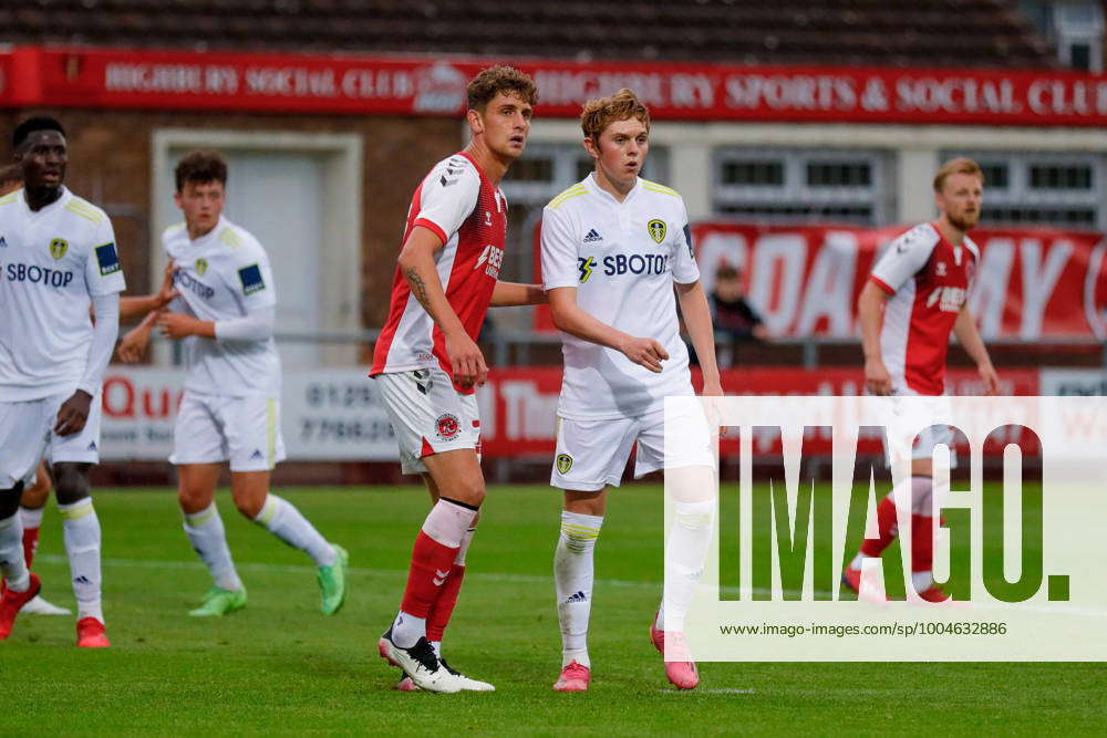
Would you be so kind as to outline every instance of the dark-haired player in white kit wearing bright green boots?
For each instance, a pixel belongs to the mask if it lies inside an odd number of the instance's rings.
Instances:
[[[176,168],[177,206],[185,222],[162,236],[176,266],[179,297],[152,313],[125,340],[144,344],[151,324],[184,343],[185,394],[169,461],[180,475],[185,533],[214,580],[194,616],[225,615],[246,605],[215,487],[230,461],[238,511],[318,569],[321,611],[339,611],[346,595],[345,550],[328,542],[289,501],[270,493],[273,467],[284,458],[280,433],[280,357],[273,341],[276,294],[269,258],[245,228],[223,216],[227,165],[215,152],[194,152]]]

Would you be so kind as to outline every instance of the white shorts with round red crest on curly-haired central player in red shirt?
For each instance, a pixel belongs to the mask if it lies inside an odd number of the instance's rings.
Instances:
[[[480,457],[480,412],[476,395],[454,389],[441,368],[377,374],[381,398],[400,443],[403,474],[426,471],[424,456],[472,448]]]

